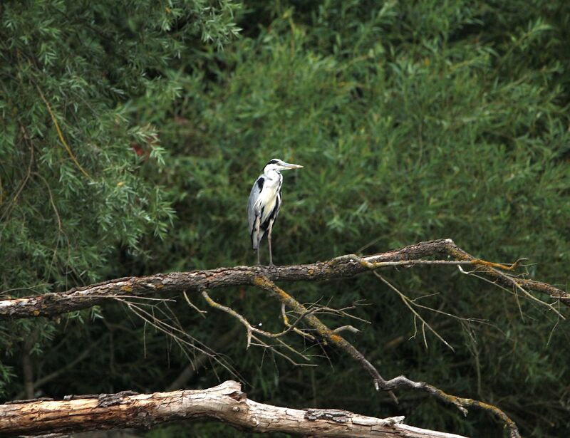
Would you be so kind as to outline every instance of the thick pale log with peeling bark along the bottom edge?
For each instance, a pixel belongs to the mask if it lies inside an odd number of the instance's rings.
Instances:
[[[185,419],[217,419],[249,432],[311,437],[465,438],[403,424],[404,417],[374,418],[343,410],[296,410],[247,398],[229,380],[207,390],[67,396],[64,400],[0,405],[0,434],[14,437],[118,428],[144,428]]]

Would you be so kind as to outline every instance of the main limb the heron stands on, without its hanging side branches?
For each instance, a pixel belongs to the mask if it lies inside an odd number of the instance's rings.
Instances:
[[[449,257],[448,260],[421,260],[426,257]],[[460,262],[460,263],[458,263]],[[148,296],[203,291],[228,286],[252,285],[257,278],[271,281],[327,281],[346,278],[358,273],[393,266],[424,266],[431,264],[472,265],[478,274],[499,286],[524,288],[525,291],[544,293],[570,306],[570,293],[541,281],[519,278],[499,269],[516,266],[494,264],[477,259],[460,249],[451,239],[420,242],[383,254],[358,257],[341,256],[314,264],[291,266],[234,266],[206,271],[158,273],[145,277],[126,277],[104,281],[90,286],[72,288],[69,291],[46,293],[25,298],[11,298],[0,301],[0,319],[33,318],[56,316],[61,313],[89,308],[115,296],[128,293],[130,296]],[[1,295],[1,294],[0,294]]]

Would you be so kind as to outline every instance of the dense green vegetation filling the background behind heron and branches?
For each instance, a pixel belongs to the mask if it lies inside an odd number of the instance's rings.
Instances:
[[[2,1],[0,291],[253,264],[244,209],[272,157],[305,167],[284,174],[277,264],[450,237],[485,259],[527,256],[531,276],[566,288],[569,29],[565,0]],[[373,276],[288,290],[302,302],[370,304],[356,313],[372,324],[353,322],[363,331],[348,339],[384,377],[492,402],[527,436],[570,429],[566,322],[452,268],[385,275],[425,306],[487,323],[425,312],[453,353],[429,334],[425,348],[408,309]],[[262,291],[212,296],[280,327]],[[504,433],[484,414],[464,419],[412,392],[395,407],[328,348],[309,350],[317,368],[293,367],[246,352],[225,314],[171,308],[253,400]],[[73,363],[36,388],[53,397],[161,391],[188,364],[120,304],[1,323],[1,400],[22,396],[23,358],[34,380]],[[238,377],[208,362],[186,387],[228,378]],[[212,423],[148,434],[242,436]]]

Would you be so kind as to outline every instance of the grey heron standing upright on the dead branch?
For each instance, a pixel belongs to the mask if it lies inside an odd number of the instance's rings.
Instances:
[[[249,234],[252,236],[252,248],[257,249],[257,264],[259,262],[259,242],[267,234],[269,244],[269,266],[273,266],[271,256],[271,229],[279,214],[281,207],[281,184],[283,175],[281,170],[299,169],[303,166],[292,165],[283,160],[274,158],[269,160],[263,169],[263,173],[257,177],[249,193],[247,201],[247,221]]]

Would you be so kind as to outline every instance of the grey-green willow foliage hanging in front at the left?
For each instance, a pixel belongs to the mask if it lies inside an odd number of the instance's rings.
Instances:
[[[145,168],[165,167],[152,120],[130,118],[133,99],[180,97],[161,73],[181,53],[237,35],[229,1],[4,1],[0,5],[0,254],[6,295],[97,281],[118,247],[137,254],[142,236],[166,236],[174,211]],[[186,63],[197,63],[195,53]],[[145,155],[146,150],[151,150]],[[136,152],[136,153],[135,153]],[[2,328],[0,391],[19,363],[51,350],[67,323]],[[86,340],[87,341],[87,340]],[[61,359],[61,356],[59,356]],[[56,365],[56,368],[58,365]],[[17,374],[17,373],[16,373]]]

